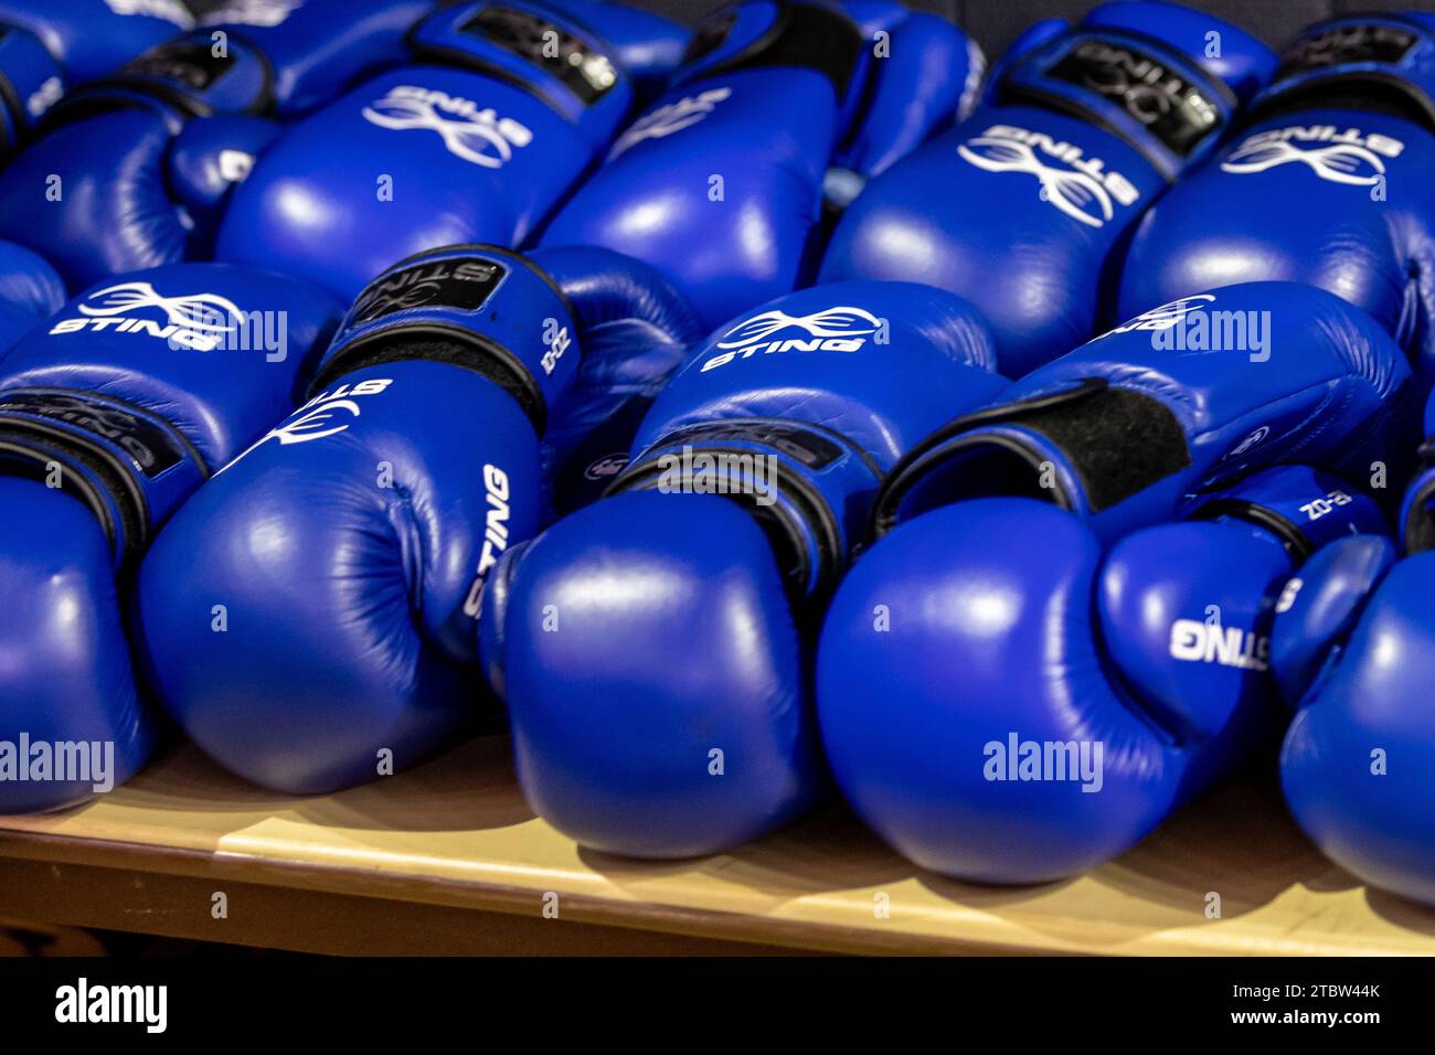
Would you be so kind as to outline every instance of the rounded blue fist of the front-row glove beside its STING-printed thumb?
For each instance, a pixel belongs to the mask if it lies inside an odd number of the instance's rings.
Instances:
[[[1167,742],[1099,646],[1099,568],[1079,518],[973,500],[897,527],[838,589],[818,650],[822,739],[844,794],[903,854],[1042,881],[1119,853],[1168,808]]]

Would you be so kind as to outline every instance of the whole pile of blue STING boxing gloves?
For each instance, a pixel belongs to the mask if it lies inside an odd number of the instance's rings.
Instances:
[[[1435,17],[199,7],[0,0],[0,812],[501,713],[588,847],[1030,883],[1284,736],[1435,903]]]

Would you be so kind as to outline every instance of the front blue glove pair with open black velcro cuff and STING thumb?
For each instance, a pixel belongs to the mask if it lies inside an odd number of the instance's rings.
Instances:
[[[1207,310],[1267,313],[1269,357],[1197,340]],[[1411,388],[1365,313],[1250,283],[1119,326],[918,445],[818,655],[822,739],[857,811],[982,881],[1065,876],[1141,838],[1251,735],[1248,685],[1207,656],[1264,663],[1292,554],[1380,528],[1353,492],[1267,474],[1205,507],[1217,522],[1129,533],[1281,462],[1363,474],[1408,442]]]

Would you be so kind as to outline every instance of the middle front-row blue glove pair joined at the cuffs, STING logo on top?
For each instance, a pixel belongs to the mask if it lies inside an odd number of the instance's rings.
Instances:
[[[726,850],[825,778],[815,620],[881,472],[990,399],[974,311],[838,283],[740,316],[654,400],[613,494],[511,550],[479,619],[528,804],[584,845]]]

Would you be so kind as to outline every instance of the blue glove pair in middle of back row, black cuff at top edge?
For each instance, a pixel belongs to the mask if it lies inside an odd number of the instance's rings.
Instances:
[[[829,165],[839,202],[949,119],[980,78],[960,30],[933,16],[898,22],[893,7],[864,11],[870,26],[895,24],[874,43],[821,0],[712,14],[667,93],[617,138],[541,244],[647,260],[709,327],[809,283]]]

